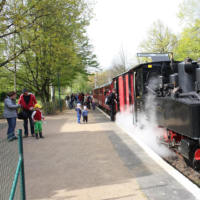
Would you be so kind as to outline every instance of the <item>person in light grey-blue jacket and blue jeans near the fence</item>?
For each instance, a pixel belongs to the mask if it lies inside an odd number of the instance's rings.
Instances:
[[[17,108],[19,108],[20,105],[16,104],[15,102],[16,96],[17,95],[15,92],[9,92],[8,96],[4,100],[4,117],[7,119],[8,122],[8,141],[13,141],[17,139],[17,137],[15,136],[15,127],[17,118]]]

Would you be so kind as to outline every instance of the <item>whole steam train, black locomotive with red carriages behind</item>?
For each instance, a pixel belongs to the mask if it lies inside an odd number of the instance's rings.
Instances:
[[[152,60],[138,64],[93,90],[95,102],[108,113],[106,92],[115,89],[116,111],[127,109],[133,122],[148,112],[147,96],[154,97],[156,123],[163,129],[162,140],[183,156],[188,165],[200,169],[200,64],[186,59]]]

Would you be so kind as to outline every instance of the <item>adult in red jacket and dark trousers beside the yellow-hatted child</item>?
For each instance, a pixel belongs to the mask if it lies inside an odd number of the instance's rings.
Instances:
[[[18,104],[21,105],[28,116],[24,119],[24,137],[28,137],[28,119],[30,122],[31,135],[34,137],[34,123],[31,115],[35,104],[37,104],[36,98],[32,93],[29,93],[27,89],[24,89],[23,94],[20,95]]]

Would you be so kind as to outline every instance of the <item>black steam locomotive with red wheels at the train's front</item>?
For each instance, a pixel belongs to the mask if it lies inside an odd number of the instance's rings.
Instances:
[[[162,62],[152,70],[143,69],[143,79],[143,94],[155,95],[157,124],[166,128],[163,139],[199,169],[200,65],[191,59]]]

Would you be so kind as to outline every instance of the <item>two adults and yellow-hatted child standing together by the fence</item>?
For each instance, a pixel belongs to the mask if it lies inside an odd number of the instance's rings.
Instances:
[[[42,135],[42,120],[44,117],[41,112],[41,106],[37,103],[35,96],[27,89],[22,91],[18,103],[16,103],[16,92],[12,91],[7,94],[4,100],[4,118],[8,122],[7,138],[8,141],[17,139],[15,135],[16,119],[19,114],[19,109],[23,115],[24,121],[24,137],[28,137],[28,121],[30,122],[30,130],[32,137],[37,139],[43,138]]]

